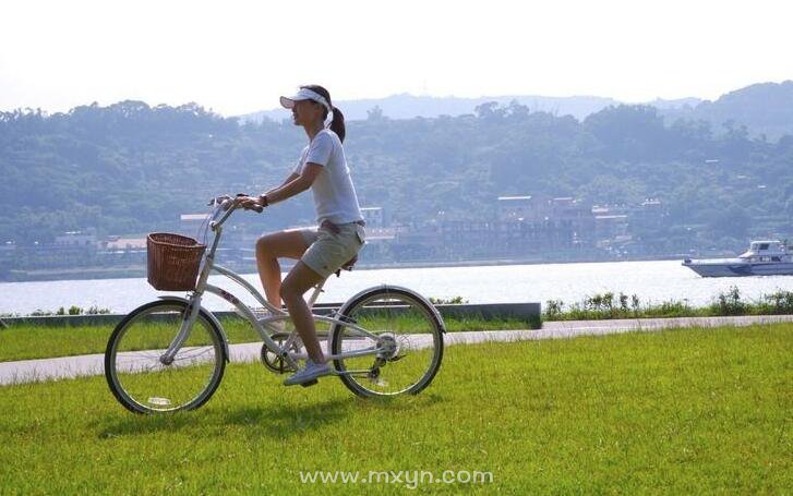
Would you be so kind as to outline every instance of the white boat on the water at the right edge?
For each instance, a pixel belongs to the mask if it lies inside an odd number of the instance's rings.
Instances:
[[[702,277],[788,276],[793,275],[793,254],[781,241],[753,241],[737,258],[686,258],[683,266]]]

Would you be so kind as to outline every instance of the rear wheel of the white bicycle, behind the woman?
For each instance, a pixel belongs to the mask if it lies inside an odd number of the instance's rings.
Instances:
[[[443,323],[421,297],[404,288],[380,287],[347,305],[343,320],[376,338],[335,324],[333,354],[376,350],[334,361],[341,382],[363,397],[414,395],[430,385],[443,360]]]

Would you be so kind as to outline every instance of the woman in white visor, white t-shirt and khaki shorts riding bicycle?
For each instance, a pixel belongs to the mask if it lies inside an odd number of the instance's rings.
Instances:
[[[280,104],[291,109],[295,125],[303,126],[309,144],[280,186],[259,197],[243,197],[241,204],[266,207],[309,187],[314,195],[319,229],[280,231],[256,242],[256,265],[267,301],[280,309],[284,300],[309,354],[305,366],[284,384],[308,385],[333,370],[325,363],[303,294],[356,257],[364,242],[363,217],[341,146],[344,116],[331,102],[331,94],[322,86],[301,86],[295,96],[281,97]],[[326,128],[329,114],[333,120]],[[278,257],[299,259],[283,283]]]

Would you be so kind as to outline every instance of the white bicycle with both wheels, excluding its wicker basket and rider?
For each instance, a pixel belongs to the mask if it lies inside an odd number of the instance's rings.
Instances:
[[[271,372],[297,371],[308,358],[297,331],[280,331],[275,324],[290,323],[289,314],[271,305],[241,276],[215,263],[223,225],[240,206],[229,196],[213,198],[209,205],[214,210],[207,228],[214,239],[192,293],[160,297],[133,310],[108,340],[105,376],[116,399],[132,412],[194,410],[217,390],[231,346],[221,322],[202,306],[206,293],[231,303],[253,326],[263,341],[259,359]],[[230,292],[209,285],[211,273],[241,286],[266,314],[257,316]],[[195,274],[192,280],[196,281]],[[308,303],[314,322],[329,326],[326,358],[333,375],[361,397],[414,395],[430,385],[441,367],[446,332],[432,303],[410,289],[383,285],[359,292],[331,315],[317,315],[314,305],[325,282],[314,287]]]

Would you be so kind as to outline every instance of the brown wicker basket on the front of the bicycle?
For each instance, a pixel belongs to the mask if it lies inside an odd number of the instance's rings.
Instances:
[[[153,232],[146,240],[148,283],[160,291],[192,291],[206,250],[192,238]]]

